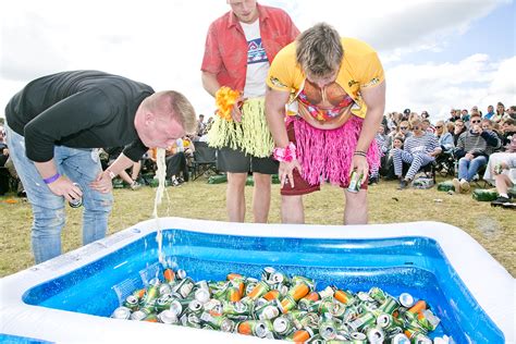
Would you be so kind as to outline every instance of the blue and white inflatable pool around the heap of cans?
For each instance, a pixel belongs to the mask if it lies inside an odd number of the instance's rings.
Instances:
[[[434,335],[455,343],[512,343],[514,279],[462,230],[438,222],[329,226],[159,219],[169,263],[194,280],[265,267],[352,291],[408,292],[433,306]],[[263,340],[109,318],[158,269],[157,221],[0,280],[0,341],[262,343]]]

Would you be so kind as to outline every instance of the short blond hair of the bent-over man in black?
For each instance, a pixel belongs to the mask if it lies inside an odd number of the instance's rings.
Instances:
[[[195,109],[185,96],[175,90],[158,91],[143,101],[143,106],[163,118],[176,120],[186,134],[197,131]]]

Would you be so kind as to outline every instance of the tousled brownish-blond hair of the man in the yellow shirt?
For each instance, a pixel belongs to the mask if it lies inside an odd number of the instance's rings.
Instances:
[[[296,61],[305,74],[323,77],[336,72],[343,57],[341,36],[325,23],[316,24],[297,37]]]

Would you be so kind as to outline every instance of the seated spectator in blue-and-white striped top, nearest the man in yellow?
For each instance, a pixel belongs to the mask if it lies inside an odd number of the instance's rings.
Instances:
[[[398,189],[404,189],[414,180],[420,168],[435,161],[442,150],[433,134],[426,133],[421,126],[421,120],[416,119],[411,123],[413,135],[405,139],[403,150],[393,149],[394,172],[400,179]],[[410,163],[407,174],[403,177],[403,162]]]

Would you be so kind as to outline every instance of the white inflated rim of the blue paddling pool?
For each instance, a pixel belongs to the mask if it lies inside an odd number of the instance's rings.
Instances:
[[[440,222],[408,222],[370,225],[254,224],[183,218],[161,218],[162,229],[275,237],[390,238],[425,236],[439,243],[459,278],[487,315],[502,330],[506,343],[515,343],[516,284],[511,274],[464,231]],[[95,261],[156,231],[156,220],[135,224],[101,241],[70,251],[0,280],[0,333],[52,342],[136,342],[171,336],[183,341],[213,343],[263,343],[262,340],[196,331],[182,327],[119,321],[102,317],[29,306],[23,293]]]

